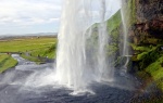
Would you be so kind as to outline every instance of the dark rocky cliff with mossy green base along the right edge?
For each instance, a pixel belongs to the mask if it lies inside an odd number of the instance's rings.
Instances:
[[[135,23],[128,28],[133,49],[131,69],[151,77],[163,90],[163,0],[133,0]]]

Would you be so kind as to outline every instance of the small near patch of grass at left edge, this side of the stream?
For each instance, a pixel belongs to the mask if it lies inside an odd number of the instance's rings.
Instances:
[[[8,68],[12,68],[17,64],[17,61],[14,60],[11,55],[0,54],[0,73],[3,73]]]

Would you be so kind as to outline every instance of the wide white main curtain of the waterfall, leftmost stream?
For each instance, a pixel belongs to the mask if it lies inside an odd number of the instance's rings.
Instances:
[[[74,90],[84,90],[90,81],[86,68],[85,31],[89,24],[89,0],[65,0],[57,54],[57,79]],[[87,8],[88,8],[87,7]],[[87,75],[89,74],[89,75]],[[89,77],[88,77],[89,76]]]

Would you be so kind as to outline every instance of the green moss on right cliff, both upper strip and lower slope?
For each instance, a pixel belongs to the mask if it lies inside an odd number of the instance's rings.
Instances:
[[[127,20],[126,26],[128,29],[131,29],[133,25],[137,23],[136,2],[136,0],[128,0],[123,7],[125,10],[123,11],[124,17]],[[138,64],[138,72],[136,74],[145,80],[152,77],[163,90],[163,52],[159,50],[159,44],[162,44],[162,40],[151,37],[149,38],[147,33],[135,31],[135,34],[139,34],[138,44],[130,43],[130,47],[135,51],[135,55],[131,60]],[[150,103],[153,102],[150,101]]]

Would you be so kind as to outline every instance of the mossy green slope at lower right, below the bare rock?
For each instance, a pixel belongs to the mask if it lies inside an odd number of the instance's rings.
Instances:
[[[150,51],[137,55],[140,69],[136,74],[142,79],[148,79],[148,75],[150,75],[163,90],[163,53],[160,51],[160,47],[159,44]]]

